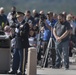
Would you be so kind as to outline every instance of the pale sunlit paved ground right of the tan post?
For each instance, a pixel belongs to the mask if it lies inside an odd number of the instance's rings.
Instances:
[[[52,69],[52,68],[38,68],[37,75],[76,75],[76,65],[70,65],[69,70]]]

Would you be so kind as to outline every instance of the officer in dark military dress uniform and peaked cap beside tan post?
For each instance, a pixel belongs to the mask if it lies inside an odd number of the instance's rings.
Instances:
[[[16,74],[20,68],[19,75],[25,74],[29,47],[29,24],[24,20],[24,13],[17,12],[17,23],[15,25],[15,49],[13,55],[13,65],[10,74]]]

